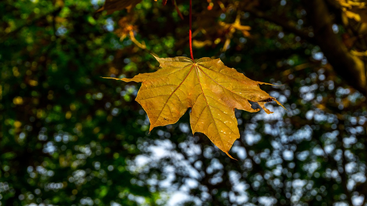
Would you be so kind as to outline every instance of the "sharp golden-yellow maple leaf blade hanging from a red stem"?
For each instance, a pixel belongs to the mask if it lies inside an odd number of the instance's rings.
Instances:
[[[196,62],[186,57],[158,58],[159,69],[138,74],[132,79],[112,78],[125,82],[142,82],[137,98],[148,114],[151,131],[156,126],[173,124],[187,111],[192,133],[201,132],[230,158],[229,149],[240,137],[235,108],[249,112],[248,101],[257,102],[266,113],[265,103],[276,101],[262,91],[263,82],[248,79],[223,64],[220,59],[201,58]],[[272,85],[272,84],[271,84]],[[282,106],[282,105],[281,105]]]

